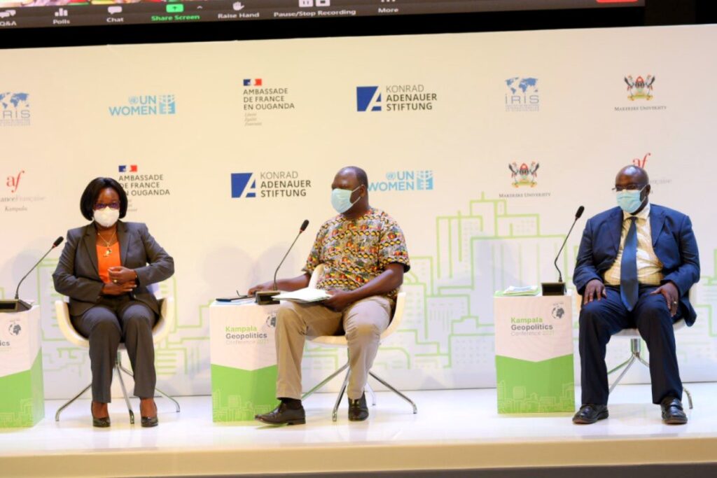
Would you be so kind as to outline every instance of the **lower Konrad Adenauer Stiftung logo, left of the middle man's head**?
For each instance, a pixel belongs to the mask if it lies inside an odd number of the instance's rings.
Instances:
[[[260,171],[232,173],[233,199],[278,199],[305,197],[311,180],[298,171]]]

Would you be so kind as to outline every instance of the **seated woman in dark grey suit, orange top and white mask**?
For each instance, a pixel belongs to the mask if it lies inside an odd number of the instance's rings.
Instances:
[[[147,286],[171,277],[174,259],[145,224],[119,220],[127,213],[127,195],[114,179],[93,179],[82,193],[80,211],[92,222],[67,231],[52,279],[55,290],[70,297],[72,325],[90,340],[92,425],[110,426],[112,371],[123,342],[142,426],[156,426],[152,327],[159,306]]]

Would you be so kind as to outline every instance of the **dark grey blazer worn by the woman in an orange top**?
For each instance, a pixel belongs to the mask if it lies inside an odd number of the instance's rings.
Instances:
[[[117,223],[120,242],[120,261],[124,267],[137,272],[138,284],[133,292],[135,300],[144,302],[156,314],[159,306],[148,285],[161,282],[174,274],[174,259],[157,244],[141,222]],[[52,279],[54,290],[70,297],[70,315],[82,315],[97,304],[102,292],[97,259],[97,229],[95,223],[67,231]]]

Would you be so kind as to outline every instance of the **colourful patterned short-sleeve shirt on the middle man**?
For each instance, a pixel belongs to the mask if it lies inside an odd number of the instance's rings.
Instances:
[[[354,290],[378,277],[388,264],[411,268],[406,239],[398,223],[384,211],[371,208],[356,219],[341,214],[321,225],[304,271],[324,264],[319,289]],[[395,300],[398,290],[387,297]]]

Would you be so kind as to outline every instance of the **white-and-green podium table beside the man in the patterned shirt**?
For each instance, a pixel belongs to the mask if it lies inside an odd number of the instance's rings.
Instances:
[[[243,302],[243,303],[242,303]],[[213,421],[248,421],[277,406],[276,311],[279,305],[209,306]]]

